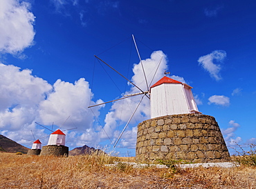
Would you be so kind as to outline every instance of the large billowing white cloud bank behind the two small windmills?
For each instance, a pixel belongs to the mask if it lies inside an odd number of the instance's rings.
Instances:
[[[102,106],[93,108],[93,113],[87,107],[102,101],[91,101],[91,94],[89,83],[83,78],[75,83],[58,79],[52,86],[44,79],[33,76],[31,70],[0,63],[0,133],[26,144],[27,141],[22,138],[31,139],[30,130],[37,138],[48,134],[47,130],[36,126],[35,121],[45,126],[54,122],[55,128],[77,127],[77,130],[70,132],[72,135],[68,135],[71,142],[68,146],[76,146],[78,141],[84,145],[88,140],[93,144],[98,139],[93,119],[100,115]]]

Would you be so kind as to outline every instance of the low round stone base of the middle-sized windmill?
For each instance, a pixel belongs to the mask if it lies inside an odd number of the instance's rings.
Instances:
[[[47,145],[43,146],[40,155],[68,156],[67,146]]]

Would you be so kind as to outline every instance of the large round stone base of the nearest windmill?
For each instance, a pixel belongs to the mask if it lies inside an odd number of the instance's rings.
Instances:
[[[137,161],[182,159],[188,162],[229,161],[228,148],[214,117],[169,115],[138,125]]]

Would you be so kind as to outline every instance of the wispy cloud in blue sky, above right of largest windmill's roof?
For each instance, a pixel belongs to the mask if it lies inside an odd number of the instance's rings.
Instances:
[[[214,50],[210,54],[199,57],[199,65],[203,67],[204,70],[210,73],[210,77],[214,78],[216,81],[221,80],[221,63],[226,57],[226,52],[224,50]]]

